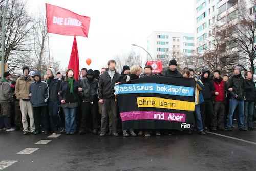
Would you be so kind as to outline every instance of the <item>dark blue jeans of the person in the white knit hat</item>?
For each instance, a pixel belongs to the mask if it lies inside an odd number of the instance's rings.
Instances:
[[[52,131],[57,131],[57,126],[61,127],[61,121],[58,117],[59,112],[59,100],[56,101],[49,101],[48,102],[49,107],[49,115],[50,115],[50,124]]]

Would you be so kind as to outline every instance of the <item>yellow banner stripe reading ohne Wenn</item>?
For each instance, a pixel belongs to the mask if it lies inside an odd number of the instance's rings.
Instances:
[[[137,97],[139,108],[164,108],[175,110],[195,110],[195,102],[187,102],[173,99],[164,99],[159,97]]]

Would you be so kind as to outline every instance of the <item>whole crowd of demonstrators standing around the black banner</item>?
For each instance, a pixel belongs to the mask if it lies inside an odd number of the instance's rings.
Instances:
[[[145,65],[123,66],[122,73],[116,71],[115,60],[99,70],[81,69],[79,80],[74,71],[65,75],[53,68],[42,76],[39,71],[23,67],[23,74],[11,81],[9,72],[4,72],[0,81],[0,131],[22,130],[29,134],[86,134],[93,132],[124,137],[162,133],[171,135],[172,130],[123,130],[115,101],[114,86],[127,81],[152,75],[152,67]],[[241,73],[234,68],[228,77],[220,70],[202,69],[199,75],[194,70],[177,70],[176,60],[161,74],[165,77],[190,77],[195,79],[195,126],[193,130],[204,135],[205,131],[232,131],[234,117],[241,131],[256,130],[253,127],[256,88],[251,71]],[[233,117],[234,116],[234,117]],[[247,125],[247,126],[246,126]]]

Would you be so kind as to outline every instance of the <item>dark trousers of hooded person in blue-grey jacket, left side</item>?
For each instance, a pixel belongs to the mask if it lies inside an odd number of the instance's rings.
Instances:
[[[49,130],[49,119],[47,106],[33,107],[35,130],[41,132],[40,124],[42,125],[42,131]]]

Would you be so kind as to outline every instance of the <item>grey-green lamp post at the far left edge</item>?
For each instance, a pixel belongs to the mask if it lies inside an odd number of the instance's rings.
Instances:
[[[5,14],[6,14],[6,8],[8,5],[8,1],[6,0],[3,18],[2,18],[2,59],[1,59],[1,77],[4,77],[4,71],[5,71]]]

